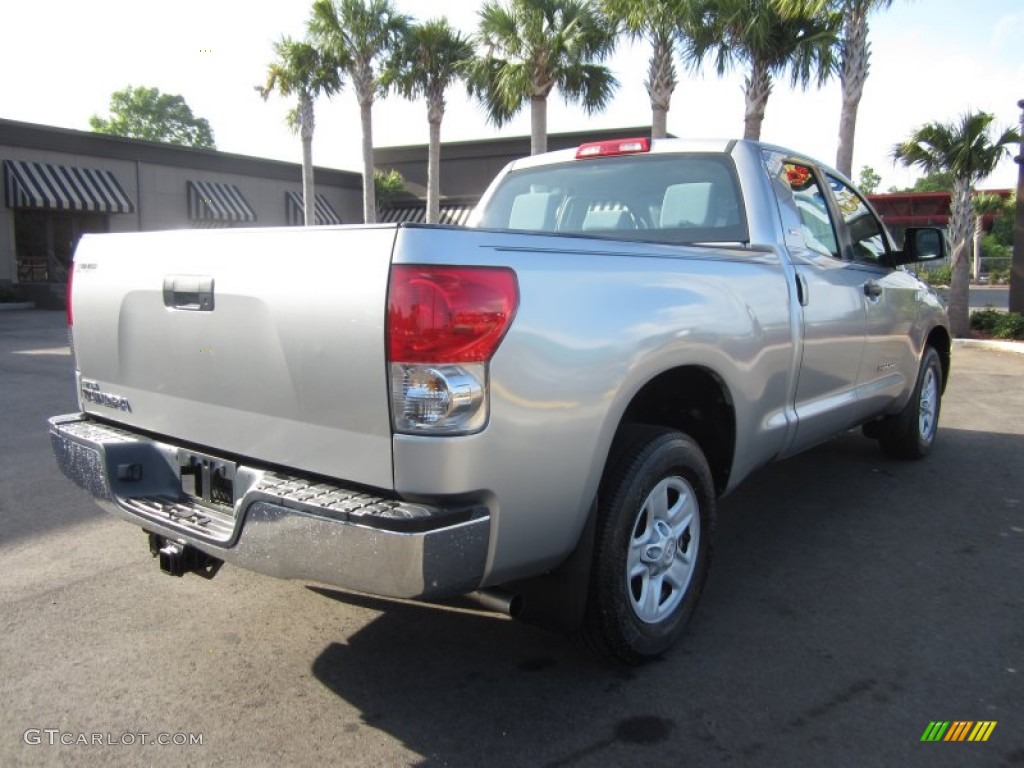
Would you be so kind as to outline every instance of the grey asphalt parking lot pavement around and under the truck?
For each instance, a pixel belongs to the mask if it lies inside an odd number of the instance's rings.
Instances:
[[[624,668],[468,604],[160,573],[53,462],[66,344],[0,312],[2,766],[1024,765],[1024,355],[954,350],[925,461],[850,433],[757,473],[688,633]]]

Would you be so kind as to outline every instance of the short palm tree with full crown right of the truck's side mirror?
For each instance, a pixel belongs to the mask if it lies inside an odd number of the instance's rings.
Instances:
[[[953,195],[949,230],[953,241],[952,278],[949,286],[949,326],[954,336],[970,331],[968,253],[971,237],[971,190],[989,176],[1010,147],[1020,141],[1013,129],[993,141],[989,133],[994,116],[967,113],[956,123],[921,126],[893,147],[893,159],[904,166],[918,166],[925,173],[952,174]]]

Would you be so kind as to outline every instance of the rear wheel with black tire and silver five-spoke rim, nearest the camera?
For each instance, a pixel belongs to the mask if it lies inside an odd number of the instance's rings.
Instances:
[[[700,597],[714,526],[715,486],[697,443],[624,427],[598,496],[584,643],[627,664],[664,653]]]

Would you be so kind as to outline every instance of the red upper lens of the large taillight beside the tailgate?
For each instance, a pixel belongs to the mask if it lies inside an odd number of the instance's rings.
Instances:
[[[395,265],[388,287],[388,359],[486,362],[518,303],[511,269]]]

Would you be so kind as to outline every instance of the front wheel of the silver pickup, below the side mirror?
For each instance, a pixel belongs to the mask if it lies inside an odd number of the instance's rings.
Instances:
[[[882,424],[879,441],[886,456],[921,459],[935,444],[942,406],[942,361],[934,347],[926,347],[913,394],[903,410]]]

